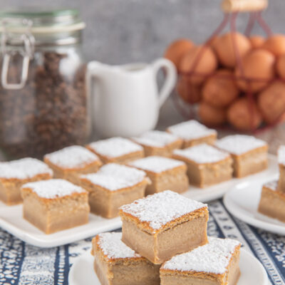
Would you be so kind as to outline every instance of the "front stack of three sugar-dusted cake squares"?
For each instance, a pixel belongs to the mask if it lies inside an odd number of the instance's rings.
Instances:
[[[207,204],[166,190],[125,204],[120,217],[122,233],[93,239],[101,284],[237,284],[241,244],[207,237]]]

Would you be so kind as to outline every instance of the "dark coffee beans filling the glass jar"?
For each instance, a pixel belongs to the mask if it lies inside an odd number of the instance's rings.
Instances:
[[[19,82],[21,63],[15,55],[9,83]],[[69,53],[38,51],[24,88],[6,90],[0,84],[0,147],[9,158],[42,158],[86,141],[85,73],[86,66]]]

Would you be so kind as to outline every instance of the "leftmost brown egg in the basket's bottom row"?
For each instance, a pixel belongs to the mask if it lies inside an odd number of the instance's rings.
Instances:
[[[227,112],[223,108],[215,108],[207,103],[199,104],[199,118],[205,125],[222,125],[227,118]]]

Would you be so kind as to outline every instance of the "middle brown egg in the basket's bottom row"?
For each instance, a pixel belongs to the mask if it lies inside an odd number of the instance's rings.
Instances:
[[[237,130],[254,130],[261,124],[261,114],[255,101],[240,98],[229,106],[227,120]]]

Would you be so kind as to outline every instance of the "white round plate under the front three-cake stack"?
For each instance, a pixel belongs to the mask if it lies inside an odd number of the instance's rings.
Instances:
[[[90,252],[78,257],[71,267],[68,276],[69,285],[100,285],[94,269],[94,257]],[[268,278],[261,263],[245,249],[241,249],[239,267],[241,276],[237,285],[268,285]]]

